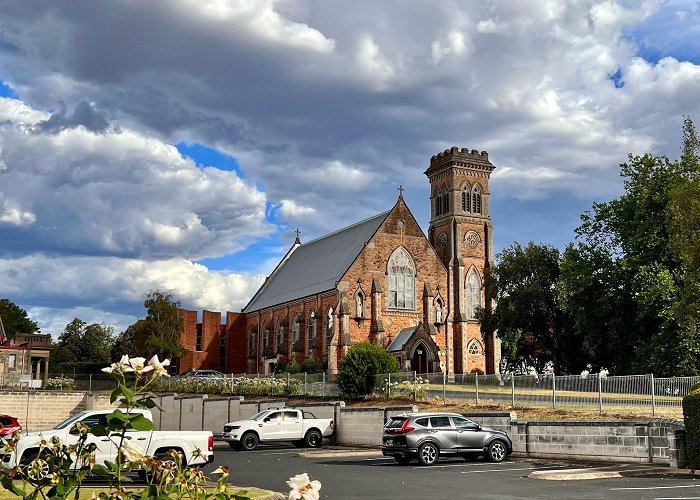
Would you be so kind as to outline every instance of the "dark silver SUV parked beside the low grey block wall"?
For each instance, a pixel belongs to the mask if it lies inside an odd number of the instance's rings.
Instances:
[[[513,452],[508,434],[487,429],[458,413],[396,415],[384,425],[382,454],[405,465],[414,458],[433,465],[441,455],[484,456],[501,462]]]

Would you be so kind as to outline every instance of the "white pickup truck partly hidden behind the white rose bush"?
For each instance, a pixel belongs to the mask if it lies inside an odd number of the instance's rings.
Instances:
[[[52,437],[61,440],[61,444],[71,445],[78,442],[79,433],[75,428],[78,422],[92,427],[106,425],[107,416],[114,411],[113,408],[101,410],[88,410],[78,412],[52,429],[30,431],[21,434],[14,451],[1,456],[2,466],[12,468],[18,464],[26,464],[34,460],[39,454],[39,440],[51,441]],[[134,413],[141,413],[151,422],[153,416],[150,410],[133,409]],[[153,457],[165,457],[169,450],[182,452],[183,463],[187,466],[206,465],[214,460],[214,436],[210,431],[138,431],[128,429],[124,436],[125,442],[136,445],[143,450],[145,455]],[[120,433],[113,432],[109,436],[95,436],[88,433],[86,444],[94,443],[95,463],[103,464],[105,460],[115,461],[119,446]],[[201,454],[193,456],[193,451],[199,449]],[[46,467],[48,473],[48,467]],[[37,477],[35,479],[41,479]]]

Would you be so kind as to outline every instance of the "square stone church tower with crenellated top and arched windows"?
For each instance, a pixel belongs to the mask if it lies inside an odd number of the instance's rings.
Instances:
[[[495,335],[483,339],[475,318],[485,304],[484,270],[493,262],[489,177],[494,169],[486,151],[452,147],[430,159],[428,239],[448,270],[447,348],[454,366],[447,373],[497,373],[500,345]],[[450,355],[453,354],[453,355]]]

